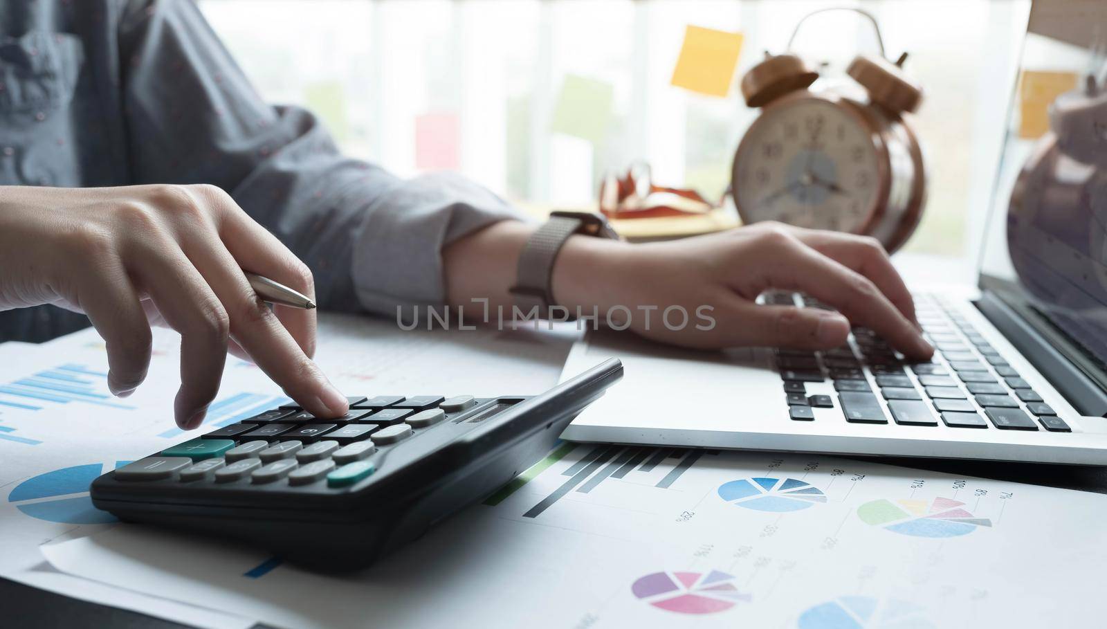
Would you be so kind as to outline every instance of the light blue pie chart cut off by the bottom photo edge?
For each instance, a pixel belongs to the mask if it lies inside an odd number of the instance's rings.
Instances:
[[[868,596],[842,596],[799,616],[799,629],[932,629],[913,602]]]

